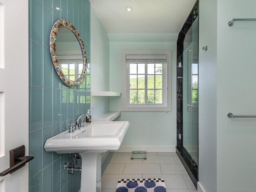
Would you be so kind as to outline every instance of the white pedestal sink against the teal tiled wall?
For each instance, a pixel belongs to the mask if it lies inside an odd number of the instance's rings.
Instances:
[[[79,153],[82,157],[81,192],[100,192],[101,155],[118,150],[130,123],[92,122],[75,132],[68,130],[46,140],[47,152]]]

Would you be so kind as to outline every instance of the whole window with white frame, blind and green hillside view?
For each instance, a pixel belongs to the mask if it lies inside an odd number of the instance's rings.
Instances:
[[[171,110],[170,57],[170,50],[122,52],[122,111]]]

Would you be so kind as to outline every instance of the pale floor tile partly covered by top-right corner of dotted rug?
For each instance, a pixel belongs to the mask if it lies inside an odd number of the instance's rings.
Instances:
[[[143,179],[163,178],[166,189],[187,189],[186,182],[182,175],[143,174]]]

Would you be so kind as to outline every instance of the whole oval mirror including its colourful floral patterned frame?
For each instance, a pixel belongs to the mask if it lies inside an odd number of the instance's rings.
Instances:
[[[86,50],[76,28],[67,20],[54,23],[50,34],[50,52],[58,76],[70,86],[79,86],[86,74]]]

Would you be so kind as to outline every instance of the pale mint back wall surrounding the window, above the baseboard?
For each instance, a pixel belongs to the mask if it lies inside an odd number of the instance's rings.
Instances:
[[[130,122],[122,146],[176,146],[176,42],[110,42],[111,91],[121,92],[122,50],[172,50],[172,111],[122,112],[116,120]],[[120,97],[110,98],[110,110],[121,110]]]

